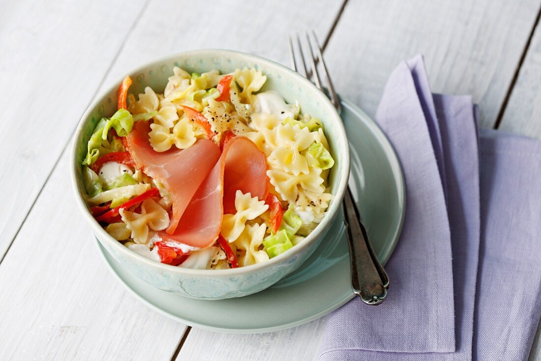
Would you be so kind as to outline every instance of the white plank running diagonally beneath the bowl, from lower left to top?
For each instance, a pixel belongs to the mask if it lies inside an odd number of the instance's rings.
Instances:
[[[288,32],[318,28],[324,38],[326,32],[321,29],[331,28],[340,8],[340,3],[330,0],[307,9],[304,4],[285,1],[235,0],[227,4],[208,2],[202,14],[198,5],[179,6],[172,0],[151,2],[140,23],[130,30],[125,46],[111,65],[113,70],[100,88],[141,62],[191,48],[234,48],[287,63]],[[222,27],[222,23],[226,26]],[[84,79],[96,75],[100,78],[104,72],[92,66],[85,70]],[[47,83],[45,76],[43,79]],[[77,79],[83,80],[81,76]],[[50,102],[44,103],[44,108],[50,117],[58,113]],[[85,104],[76,108],[82,113]],[[62,118],[69,118],[75,126],[80,113]],[[20,139],[20,134],[17,136]],[[62,138],[63,146],[68,137],[69,132],[55,139],[60,142]],[[185,327],[149,310],[109,274],[88,227],[70,201],[67,167],[65,151],[0,264],[0,338],[3,345],[8,345],[0,347],[0,359],[170,358]],[[24,185],[11,192],[22,193],[27,188]],[[203,332],[201,337],[205,337]],[[207,332],[206,337],[215,338],[212,332]],[[26,341],[29,339],[32,342]]]

